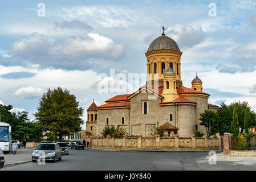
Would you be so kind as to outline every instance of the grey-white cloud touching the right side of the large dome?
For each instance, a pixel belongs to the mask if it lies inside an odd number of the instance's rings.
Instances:
[[[178,46],[186,48],[193,47],[204,39],[204,31],[199,27],[197,30],[192,26],[183,24],[175,24],[173,27],[168,27],[166,35],[175,40]]]

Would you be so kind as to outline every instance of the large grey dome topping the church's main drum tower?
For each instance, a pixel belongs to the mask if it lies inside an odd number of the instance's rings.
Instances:
[[[180,51],[180,48],[178,48],[178,44],[172,38],[169,38],[169,36],[165,36],[165,34],[162,34],[162,36],[159,36],[158,38],[153,40],[148,47],[148,51],[160,49]]]

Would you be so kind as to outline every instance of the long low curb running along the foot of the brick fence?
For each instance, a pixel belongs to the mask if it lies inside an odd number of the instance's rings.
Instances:
[[[116,151],[116,152],[209,152],[209,151],[223,151],[223,150],[111,150],[102,148],[88,148],[87,150],[101,150],[101,151]]]

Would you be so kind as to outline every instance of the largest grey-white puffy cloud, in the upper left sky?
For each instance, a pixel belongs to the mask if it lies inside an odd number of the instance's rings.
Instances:
[[[123,52],[124,44],[116,44],[112,39],[99,34],[60,41],[34,32],[15,42],[10,50],[13,57],[5,57],[4,61],[9,65],[33,63],[41,67],[88,69],[92,67],[90,58],[116,59]]]

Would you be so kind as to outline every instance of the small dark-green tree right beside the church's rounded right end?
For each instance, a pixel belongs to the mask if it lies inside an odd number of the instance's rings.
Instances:
[[[204,113],[200,113],[200,118],[202,122],[200,125],[206,127],[206,134],[210,136],[212,134],[212,129],[218,127],[218,115],[213,110],[205,110]]]

